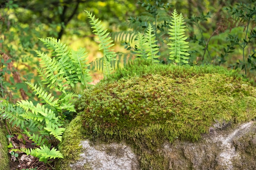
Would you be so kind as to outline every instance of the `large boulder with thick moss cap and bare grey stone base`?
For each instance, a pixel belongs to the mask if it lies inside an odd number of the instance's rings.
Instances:
[[[76,110],[59,170],[256,169],[256,88],[236,71],[138,60]]]

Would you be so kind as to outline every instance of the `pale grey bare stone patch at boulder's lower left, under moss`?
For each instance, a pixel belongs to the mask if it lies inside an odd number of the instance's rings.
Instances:
[[[82,168],[92,170],[139,170],[137,156],[125,144],[100,144],[91,146],[88,140],[82,141],[84,152],[81,159],[70,165],[72,170]]]

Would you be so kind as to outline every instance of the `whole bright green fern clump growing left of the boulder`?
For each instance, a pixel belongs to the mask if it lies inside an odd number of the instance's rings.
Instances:
[[[41,64],[41,68],[37,67],[39,76],[42,78],[41,83],[39,85],[32,82],[26,83],[42,103],[34,104],[28,100],[20,100],[15,106],[8,102],[0,103],[0,113],[4,119],[9,119],[13,126],[20,126],[24,134],[40,147],[21,150],[38,157],[40,161],[47,162],[52,158],[63,158],[61,152],[49,148],[52,144],[56,145],[62,141],[64,126],[68,122],[64,113],[76,112],[73,104],[73,99],[78,97],[76,84],[81,83],[88,88],[87,84],[91,77],[87,69],[88,64],[85,64],[88,57],[85,49],[70,51],[65,44],[55,38],[40,40],[49,50],[52,50],[54,57],[36,51]],[[50,92],[52,88],[61,93],[58,98]],[[35,128],[38,132],[33,130]]]

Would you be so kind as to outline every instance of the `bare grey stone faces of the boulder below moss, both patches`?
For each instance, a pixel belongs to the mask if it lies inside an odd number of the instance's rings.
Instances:
[[[255,170],[256,124],[250,121],[231,127],[210,128],[196,142],[175,140],[162,146],[171,170]],[[139,159],[124,143],[90,144],[81,141],[84,152],[72,170],[140,170]],[[254,152],[254,153],[253,153]]]

